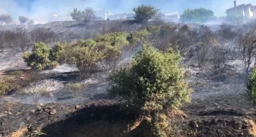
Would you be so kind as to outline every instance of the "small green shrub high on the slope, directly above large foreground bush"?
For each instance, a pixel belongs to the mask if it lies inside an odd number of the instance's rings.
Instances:
[[[144,43],[149,36],[147,30],[133,31],[127,35],[127,41],[130,44],[136,44],[137,42]]]

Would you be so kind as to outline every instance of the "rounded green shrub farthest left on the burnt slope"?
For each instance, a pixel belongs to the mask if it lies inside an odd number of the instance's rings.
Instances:
[[[23,59],[27,66],[31,66],[32,69],[36,70],[54,68],[58,65],[57,61],[50,60],[50,47],[43,42],[34,44],[32,52],[25,52]]]

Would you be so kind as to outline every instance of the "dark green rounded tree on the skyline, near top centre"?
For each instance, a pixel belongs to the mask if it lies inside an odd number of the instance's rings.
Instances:
[[[142,6],[133,8],[132,11],[135,13],[134,18],[139,22],[143,22],[153,18],[159,9],[154,8],[154,6],[146,6],[142,4]]]

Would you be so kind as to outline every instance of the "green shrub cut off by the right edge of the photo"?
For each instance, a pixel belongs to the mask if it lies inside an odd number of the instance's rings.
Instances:
[[[256,105],[256,68],[252,69],[252,74],[247,83],[247,97],[252,105]]]

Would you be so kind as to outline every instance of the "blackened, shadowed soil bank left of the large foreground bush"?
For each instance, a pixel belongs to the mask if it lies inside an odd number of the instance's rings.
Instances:
[[[66,119],[46,126],[43,128],[43,133],[46,133],[46,136],[51,137],[75,137],[82,136],[82,133],[86,133],[83,134],[83,136],[100,136],[100,134],[102,136],[121,136],[120,133],[127,128],[125,125],[134,121],[138,116],[138,112],[134,112],[132,109],[125,107],[120,107],[120,105],[92,105],[70,114]],[[95,125],[98,127],[95,127]],[[94,127],[94,129],[92,127]],[[91,131],[87,131],[88,128]],[[115,131],[116,129],[117,131]],[[110,133],[107,133],[107,130],[109,130]]]

